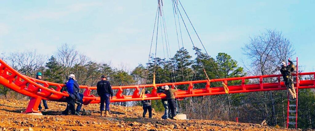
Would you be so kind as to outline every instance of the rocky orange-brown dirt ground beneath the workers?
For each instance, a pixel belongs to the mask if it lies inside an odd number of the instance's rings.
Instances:
[[[163,120],[162,114],[153,111],[153,118],[142,118],[142,107],[122,107],[111,105],[111,118],[100,117],[99,104],[83,105],[92,112],[91,116],[60,115],[66,108],[66,103],[50,102],[50,111],[43,111],[43,115],[23,114],[28,100],[0,99],[0,131],[3,130],[141,130],[141,131],[280,131],[285,128],[273,128],[253,123],[236,123],[214,120]],[[83,109],[82,108],[82,109]],[[148,115],[148,114],[147,114]]]

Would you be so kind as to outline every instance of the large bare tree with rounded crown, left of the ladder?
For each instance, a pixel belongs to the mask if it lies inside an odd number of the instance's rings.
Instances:
[[[242,48],[244,54],[250,59],[251,68],[247,68],[249,72],[255,73],[255,75],[266,75],[278,73],[278,65],[282,61],[295,54],[294,48],[290,43],[289,39],[284,38],[282,32],[277,30],[267,29],[266,32],[261,33],[258,36],[250,37],[249,43],[245,44]],[[264,82],[275,82],[273,79],[265,78]],[[266,97],[269,94],[270,100]],[[283,92],[277,93],[283,99]],[[277,124],[277,114],[276,106],[283,100],[278,100],[279,98],[274,91],[268,93],[255,93],[254,97],[261,98],[258,99],[260,103],[265,107],[265,112],[263,113],[265,118],[269,118],[272,125]],[[262,96],[261,96],[262,95]],[[269,111],[269,104],[272,110]],[[271,112],[271,114],[269,113]]]

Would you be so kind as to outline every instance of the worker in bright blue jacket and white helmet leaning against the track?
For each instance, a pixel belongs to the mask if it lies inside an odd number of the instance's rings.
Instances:
[[[79,93],[79,84],[76,81],[76,76],[74,74],[69,75],[69,80],[66,83],[67,92],[69,94],[69,97],[66,97],[67,100],[67,108],[65,111],[63,111],[62,115],[67,115],[69,110],[71,111],[71,114],[73,115],[80,115],[80,110],[83,103],[83,94]],[[77,103],[77,109],[75,110],[74,103]]]

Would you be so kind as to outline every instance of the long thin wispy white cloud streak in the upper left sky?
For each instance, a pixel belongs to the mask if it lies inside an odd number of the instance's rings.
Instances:
[[[62,17],[65,17],[72,13],[77,13],[80,11],[87,10],[89,8],[102,5],[102,3],[76,3],[69,6],[66,6],[65,8],[61,8],[58,10],[43,10],[43,11],[37,11],[33,12],[31,14],[28,14],[24,16],[23,18],[26,20],[34,20],[34,19],[59,19]]]

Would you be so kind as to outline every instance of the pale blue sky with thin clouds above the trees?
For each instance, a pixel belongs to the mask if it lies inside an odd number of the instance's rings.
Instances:
[[[266,29],[281,31],[293,44],[299,64],[314,71],[315,1],[181,0],[207,52],[224,52],[243,66],[242,47]],[[36,49],[53,55],[62,43],[97,62],[135,68],[148,61],[156,0],[0,0],[0,53]],[[170,54],[178,50],[171,0],[163,0]],[[194,55],[182,28],[184,47]],[[192,28],[189,28],[192,32]],[[192,39],[202,48],[196,36]],[[164,57],[158,41],[157,57]]]

